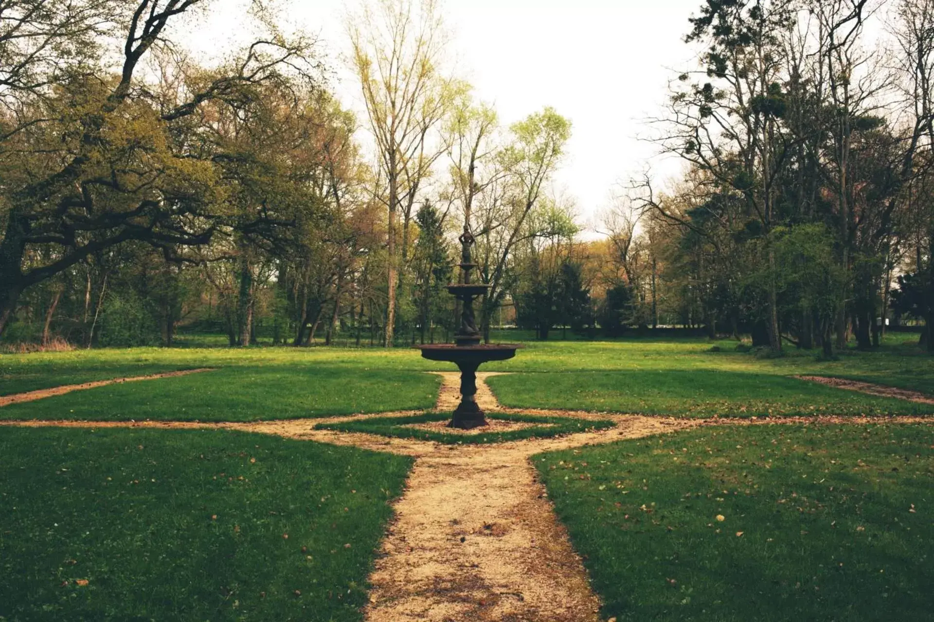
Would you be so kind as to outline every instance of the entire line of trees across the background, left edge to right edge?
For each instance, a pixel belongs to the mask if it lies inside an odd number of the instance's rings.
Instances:
[[[552,185],[571,122],[503,127],[433,0],[351,11],[360,115],[262,3],[255,41],[192,58],[205,2],[0,0],[4,342],[444,341],[465,213],[486,339],[686,325],[832,355],[934,319],[934,0],[704,2],[700,67],[649,120],[685,173],[630,180],[599,240]]]

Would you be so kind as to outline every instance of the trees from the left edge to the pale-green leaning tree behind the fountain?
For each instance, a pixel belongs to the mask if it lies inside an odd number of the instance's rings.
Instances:
[[[265,35],[227,62],[192,59],[177,32],[199,4],[0,0],[0,336],[446,339],[468,202],[488,333],[570,123],[545,108],[501,128],[446,74],[432,2],[348,20],[362,121],[316,42],[278,32],[260,3]]]

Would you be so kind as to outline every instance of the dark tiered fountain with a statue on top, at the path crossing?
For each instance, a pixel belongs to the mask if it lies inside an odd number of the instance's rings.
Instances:
[[[432,361],[449,361],[460,368],[460,405],[448,427],[470,430],[487,425],[483,410],[477,405],[476,368],[488,361],[504,361],[516,355],[515,343],[480,344],[480,331],[476,328],[474,298],[483,296],[491,285],[471,283],[470,271],[477,267],[471,261],[470,247],[474,236],[468,226],[470,214],[464,214],[464,231],[460,235],[460,283],[447,286],[447,291],[457,297],[462,305],[460,330],[454,335],[454,343],[418,346],[421,355]]]

